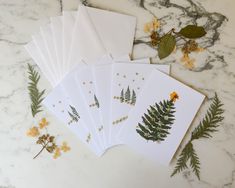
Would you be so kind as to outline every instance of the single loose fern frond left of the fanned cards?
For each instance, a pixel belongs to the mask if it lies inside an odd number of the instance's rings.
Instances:
[[[40,75],[34,70],[33,66],[28,64],[28,90],[31,99],[31,112],[33,117],[39,112],[41,112],[41,102],[43,101],[43,95],[45,90],[39,91],[38,82],[40,80]]]

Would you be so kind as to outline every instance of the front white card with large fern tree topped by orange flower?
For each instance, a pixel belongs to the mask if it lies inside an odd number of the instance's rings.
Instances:
[[[154,70],[142,87],[121,138],[157,163],[169,164],[204,96]]]

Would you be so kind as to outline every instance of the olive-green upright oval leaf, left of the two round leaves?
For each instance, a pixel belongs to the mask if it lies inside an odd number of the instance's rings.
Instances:
[[[175,48],[175,37],[171,34],[164,35],[158,45],[158,56],[163,59],[171,54]]]

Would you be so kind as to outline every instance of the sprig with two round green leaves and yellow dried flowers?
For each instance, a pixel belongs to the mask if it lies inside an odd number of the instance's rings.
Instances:
[[[188,68],[193,68],[195,60],[191,59],[189,54],[204,50],[199,47],[196,39],[206,35],[205,29],[202,26],[187,25],[179,31],[172,28],[165,34],[160,34],[159,29],[160,22],[157,18],[154,18],[152,22],[146,23],[144,27],[144,31],[150,34],[150,43],[156,48],[158,57],[160,59],[168,57],[177,48],[177,41],[183,40],[183,47],[181,48],[183,57],[181,61]]]

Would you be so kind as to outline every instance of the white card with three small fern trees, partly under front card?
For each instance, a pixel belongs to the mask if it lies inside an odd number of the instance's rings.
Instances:
[[[138,61],[140,62],[140,61]],[[116,63],[112,66],[110,142],[121,144],[118,135],[139,91],[149,74],[158,69],[169,74],[169,66],[141,63]],[[158,82],[159,83],[159,82]]]

